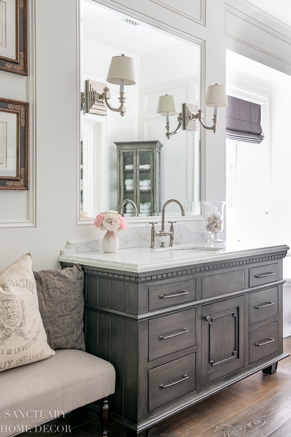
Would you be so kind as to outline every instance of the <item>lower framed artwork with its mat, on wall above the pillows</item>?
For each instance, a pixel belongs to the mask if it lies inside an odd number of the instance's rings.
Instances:
[[[0,98],[0,190],[28,190],[29,103]]]

